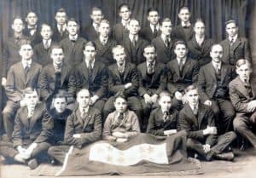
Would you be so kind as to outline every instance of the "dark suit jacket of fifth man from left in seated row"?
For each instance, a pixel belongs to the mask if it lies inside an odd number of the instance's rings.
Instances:
[[[160,93],[166,89],[166,66],[160,62],[155,62],[154,73],[152,78],[147,74],[147,62],[143,62],[137,66],[140,96],[148,95],[160,95]]]

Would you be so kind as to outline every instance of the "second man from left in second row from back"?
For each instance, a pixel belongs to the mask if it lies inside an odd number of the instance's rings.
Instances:
[[[52,60],[50,59],[50,48],[56,43],[52,40],[52,30],[49,25],[42,24],[41,36],[43,40],[34,46],[34,61],[41,66],[49,65]]]

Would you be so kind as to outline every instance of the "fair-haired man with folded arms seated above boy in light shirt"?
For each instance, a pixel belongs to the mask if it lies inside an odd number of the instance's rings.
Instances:
[[[129,108],[136,112],[137,117],[142,123],[143,108],[141,101],[137,98],[137,89],[139,87],[137,68],[134,64],[125,61],[125,49],[121,45],[113,47],[113,59],[116,64],[108,66],[108,90],[111,96],[104,107],[104,119],[110,112],[114,111],[114,96],[118,92],[123,92],[127,96]],[[142,127],[142,125],[141,125]]]

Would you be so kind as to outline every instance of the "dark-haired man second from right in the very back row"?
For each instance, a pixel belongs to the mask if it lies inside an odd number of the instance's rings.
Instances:
[[[160,15],[157,8],[149,8],[148,9],[148,17],[147,20],[149,22],[149,26],[144,27],[140,35],[144,39],[148,40],[149,43],[154,39],[154,37],[160,36]]]

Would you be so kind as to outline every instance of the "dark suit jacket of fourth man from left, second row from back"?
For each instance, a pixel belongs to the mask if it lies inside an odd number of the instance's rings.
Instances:
[[[112,49],[117,44],[117,42],[111,38],[108,38],[108,42],[103,46],[102,42],[100,41],[100,38],[96,38],[96,58],[101,60],[102,63],[109,66],[115,63],[115,60],[113,60],[112,55]]]

